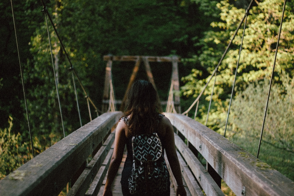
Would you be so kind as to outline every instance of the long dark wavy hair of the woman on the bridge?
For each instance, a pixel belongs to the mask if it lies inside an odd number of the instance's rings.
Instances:
[[[158,113],[161,113],[158,94],[153,85],[145,80],[135,81],[128,93],[124,115],[131,115],[129,131],[132,135],[153,133]]]

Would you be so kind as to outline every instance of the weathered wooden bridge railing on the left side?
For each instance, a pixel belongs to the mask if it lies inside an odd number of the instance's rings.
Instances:
[[[111,128],[121,115],[104,113],[58,141],[2,179],[0,195],[58,195],[68,182],[73,186],[67,195],[97,195],[113,152]]]

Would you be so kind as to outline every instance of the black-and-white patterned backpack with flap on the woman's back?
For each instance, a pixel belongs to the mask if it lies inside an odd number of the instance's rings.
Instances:
[[[160,114],[159,118],[163,116]],[[169,172],[157,133],[132,137],[132,147],[133,169],[128,179],[130,194],[160,195],[166,192]]]

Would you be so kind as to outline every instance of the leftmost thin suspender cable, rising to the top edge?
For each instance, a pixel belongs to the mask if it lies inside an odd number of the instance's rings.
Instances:
[[[32,133],[31,133],[31,125],[30,125],[30,120],[28,118],[28,106],[27,106],[27,98],[25,95],[25,84],[24,84],[24,77],[22,75],[22,66],[21,66],[21,58],[19,56],[19,49],[18,49],[18,40],[17,40],[17,33],[16,33],[16,27],[15,27],[15,21],[14,21],[14,13],[13,13],[13,5],[12,5],[12,0],[10,0],[11,2],[11,8],[12,8],[12,17],[13,17],[13,25],[14,25],[14,32],[15,32],[15,38],[16,38],[16,45],[17,45],[17,54],[18,54],[18,60],[19,60],[19,66],[21,68],[21,81],[22,81],[22,88],[24,91],[24,97],[25,97],[25,110],[27,112],[27,119],[28,119],[28,131],[30,133],[30,138],[31,138],[31,146],[32,146],[32,154],[33,157],[35,157],[35,152],[34,152],[34,147],[33,147],[33,140],[32,140]]]

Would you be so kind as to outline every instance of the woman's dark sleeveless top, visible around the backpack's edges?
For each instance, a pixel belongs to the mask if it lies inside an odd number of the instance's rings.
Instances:
[[[158,114],[158,123],[160,122],[160,120],[162,119],[162,117],[164,117],[163,114]],[[126,123],[127,126],[129,126],[129,118],[127,116],[122,117],[121,118],[123,120],[124,123]],[[162,150],[164,153],[164,148],[165,148],[165,144],[164,144],[164,138],[158,134],[158,137],[160,139],[160,141],[162,142]],[[133,147],[132,147],[132,136],[130,136],[129,138],[126,138],[126,149],[127,149],[127,155],[126,155],[126,160],[125,160],[125,164],[123,167],[123,171],[122,171],[122,178],[121,178],[121,185],[122,185],[122,191],[123,191],[123,195],[131,195],[128,191],[129,191],[129,183],[128,183],[128,179],[131,175],[132,172],[132,168],[133,168]],[[169,195],[169,193],[168,193]]]

